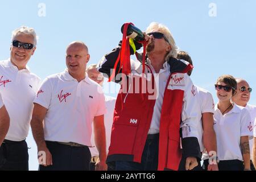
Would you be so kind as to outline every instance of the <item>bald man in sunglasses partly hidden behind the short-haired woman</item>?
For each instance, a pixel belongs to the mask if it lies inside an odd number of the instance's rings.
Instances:
[[[232,101],[235,102],[238,106],[245,107],[251,116],[250,122],[250,130],[253,130],[254,120],[256,118],[256,106],[248,104],[250,101],[251,91],[253,90],[250,88],[250,85],[247,81],[243,80],[242,78],[236,78],[237,81],[237,92],[232,97]],[[251,170],[255,171],[253,166],[253,139],[249,139],[249,146],[250,146],[250,154],[251,154]]]

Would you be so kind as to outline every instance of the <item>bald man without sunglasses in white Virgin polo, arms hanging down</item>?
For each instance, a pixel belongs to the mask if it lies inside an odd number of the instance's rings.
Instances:
[[[96,170],[106,170],[105,97],[85,73],[88,47],[72,42],[66,53],[67,69],[48,76],[34,100],[31,128],[39,170],[89,170],[92,123],[99,151]]]

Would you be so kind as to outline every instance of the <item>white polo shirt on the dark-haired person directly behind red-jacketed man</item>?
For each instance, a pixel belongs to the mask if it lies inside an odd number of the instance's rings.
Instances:
[[[192,89],[193,94],[196,96],[196,105],[195,109],[197,109],[198,114],[196,115],[196,128],[198,132],[198,142],[200,145],[201,152],[204,151],[204,143],[203,143],[203,124],[202,124],[202,114],[203,113],[214,113],[214,101],[212,94],[210,94],[207,90],[200,88],[199,86],[194,85]]]

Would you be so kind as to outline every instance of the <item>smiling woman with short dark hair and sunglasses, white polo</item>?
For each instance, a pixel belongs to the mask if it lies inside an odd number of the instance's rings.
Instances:
[[[245,107],[231,102],[237,82],[231,75],[218,78],[215,85],[218,104],[213,127],[217,138],[218,169],[220,171],[250,170],[250,114]],[[206,161],[205,161],[206,162]],[[207,165],[207,164],[206,164]]]

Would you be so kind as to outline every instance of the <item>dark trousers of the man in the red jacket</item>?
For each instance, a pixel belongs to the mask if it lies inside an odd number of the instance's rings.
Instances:
[[[117,171],[156,171],[158,169],[159,134],[148,135],[141,163],[129,161],[115,162]]]

